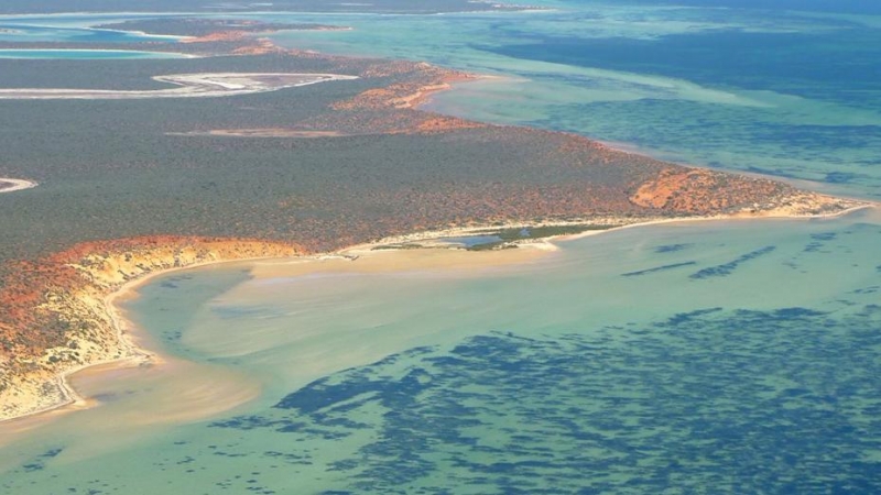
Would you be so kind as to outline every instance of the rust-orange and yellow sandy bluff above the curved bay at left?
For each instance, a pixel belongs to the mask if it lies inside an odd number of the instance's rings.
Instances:
[[[202,263],[298,254],[301,248],[280,242],[149,237],[81,243],[18,263],[0,292],[0,420],[63,402],[56,378],[65,371],[127,356],[104,301],[126,282]]]

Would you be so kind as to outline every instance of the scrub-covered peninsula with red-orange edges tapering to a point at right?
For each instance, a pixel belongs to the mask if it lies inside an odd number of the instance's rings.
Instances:
[[[161,24],[152,31],[165,34]],[[62,405],[64,376],[138,354],[107,297],[170,268],[445,229],[588,230],[864,205],[422,111],[433,91],[476,76],[284,50],[224,31],[238,30],[235,20],[216,26],[176,21],[170,34],[204,42],[150,44],[198,58],[58,61],[63,77],[40,61],[0,61],[0,177],[41,184],[0,196],[0,419]],[[226,98],[184,98],[207,96]],[[0,178],[0,193],[34,184]]]

